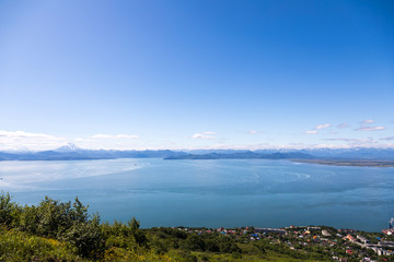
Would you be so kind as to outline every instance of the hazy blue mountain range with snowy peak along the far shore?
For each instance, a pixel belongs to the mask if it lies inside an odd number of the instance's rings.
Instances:
[[[116,158],[164,159],[311,159],[314,163],[344,163],[343,160],[394,162],[394,148],[343,148],[343,150],[198,150],[198,151],[112,151],[83,150],[70,143],[51,151],[0,152],[0,160],[86,160]],[[323,162],[324,160],[324,162]]]

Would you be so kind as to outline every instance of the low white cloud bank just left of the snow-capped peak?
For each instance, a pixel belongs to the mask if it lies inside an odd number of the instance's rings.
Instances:
[[[28,133],[24,131],[0,131],[0,150],[44,151],[59,147],[68,141],[43,133]]]

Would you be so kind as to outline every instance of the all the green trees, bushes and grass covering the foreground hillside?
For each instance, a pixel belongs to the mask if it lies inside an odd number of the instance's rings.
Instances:
[[[102,223],[78,198],[72,203],[46,196],[38,205],[22,206],[2,194],[0,224],[0,261],[360,261],[366,255],[394,261],[358,247],[349,253],[335,228],[326,228],[326,240],[336,245],[324,245],[313,231],[299,240],[302,228],[264,234],[253,227],[141,229],[136,218]],[[376,236],[383,237],[369,237]]]

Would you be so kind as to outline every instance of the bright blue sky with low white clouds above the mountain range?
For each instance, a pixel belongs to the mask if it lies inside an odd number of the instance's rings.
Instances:
[[[391,0],[0,1],[0,150],[394,147]]]

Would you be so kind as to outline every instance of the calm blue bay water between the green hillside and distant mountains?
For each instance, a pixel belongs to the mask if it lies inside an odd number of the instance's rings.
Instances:
[[[287,160],[0,162],[22,204],[76,195],[103,221],[142,227],[328,225],[381,230],[394,216],[394,168]]]

